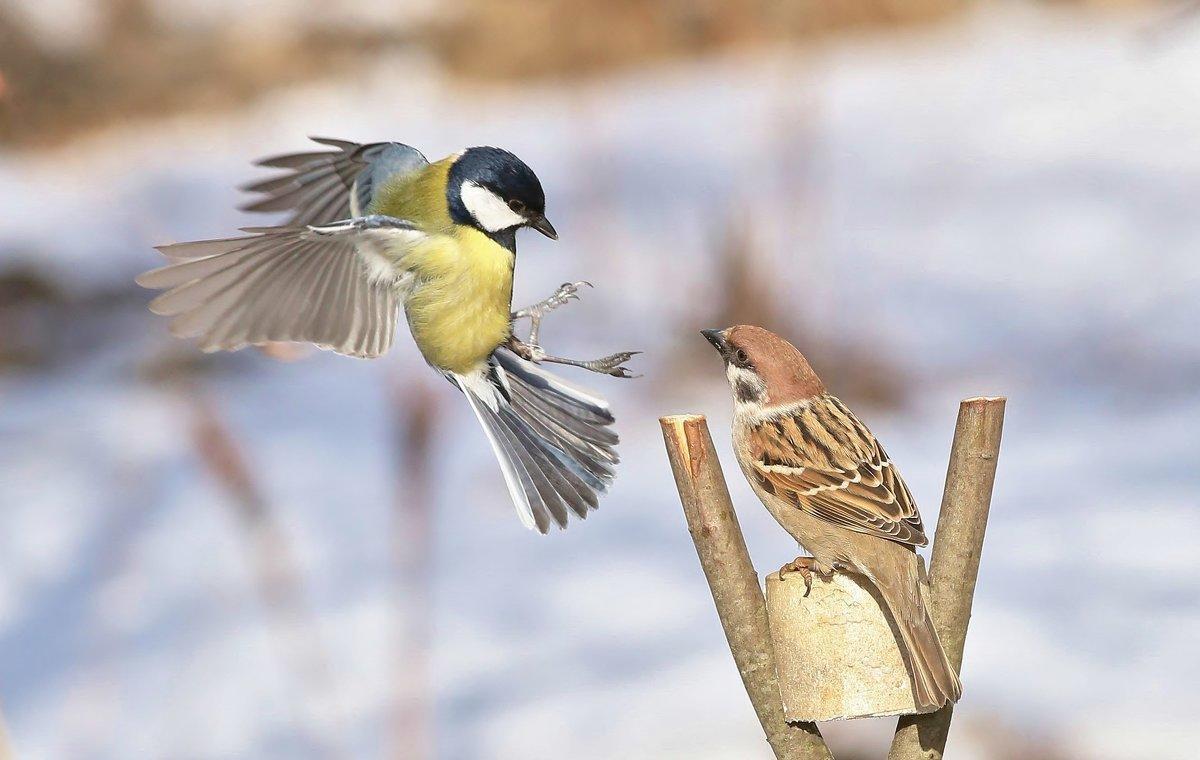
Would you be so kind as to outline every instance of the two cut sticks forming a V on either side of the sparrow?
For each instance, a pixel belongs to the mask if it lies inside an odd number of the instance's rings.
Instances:
[[[962,666],[1003,423],[1004,399],[962,401],[946,473],[929,572],[930,603],[938,638],[958,669]],[[659,424],[688,529],[767,741],[780,759],[832,760],[815,724],[788,724],[784,718],[762,588],[704,418],[664,417]],[[947,706],[901,718],[888,760],[941,760],[953,714],[953,706]]]

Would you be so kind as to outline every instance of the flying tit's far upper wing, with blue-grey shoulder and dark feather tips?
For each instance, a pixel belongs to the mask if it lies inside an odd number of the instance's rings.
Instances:
[[[428,164],[421,151],[401,143],[360,145],[328,137],[313,142],[334,150],[295,152],[263,158],[257,166],[287,169],[242,187],[262,197],[242,207],[246,211],[294,210],[289,226],[320,225],[362,215],[376,187]]]

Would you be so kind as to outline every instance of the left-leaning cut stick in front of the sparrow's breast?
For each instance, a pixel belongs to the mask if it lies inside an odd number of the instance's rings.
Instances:
[[[758,575],[733,511],[702,415],[662,417],[671,469],[688,529],[746,694],[779,760],[833,760],[815,724],[788,725],[779,698],[775,650]]]

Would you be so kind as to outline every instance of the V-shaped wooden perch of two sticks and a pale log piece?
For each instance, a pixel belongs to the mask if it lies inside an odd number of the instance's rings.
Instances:
[[[1003,420],[1004,399],[964,401],[946,474],[929,605],[956,669],[962,666]],[[775,756],[832,760],[815,723],[788,724],[788,718],[818,720],[912,710],[894,635],[871,590],[835,573],[829,579],[815,578],[811,592],[805,592],[803,581],[792,582],[776,573],[767,579],[764,603],[704,418],[664,417],[659,423],[688,529],[742,682]],[[779,659],[772,630],[775,640],[796,644]],[[902,717],[888,760],[941,760],[952,717],[953,706]]]

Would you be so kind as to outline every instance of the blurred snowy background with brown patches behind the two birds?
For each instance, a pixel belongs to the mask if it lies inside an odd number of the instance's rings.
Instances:
[[[1009,397],[949,756],[1200,746],[1200,14],[1152,2],[0,0],[0,712],[32,758],[767,758],[656,418],[790,336],[936,522]],[[524,531],[410,341],[203,355],[133,276],[306,136],[503,145],[517,305],[642,348]],[[571,372],[565,370],[564,373]],[[730,472],[758,569],[794,545]],[[826,726],[882,756],[893,720]]]

